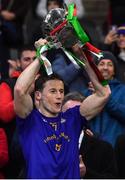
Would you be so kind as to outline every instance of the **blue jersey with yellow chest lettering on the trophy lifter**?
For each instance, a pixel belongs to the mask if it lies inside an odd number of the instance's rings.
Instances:
[[[33,110],[17,125],[27,178],[80,178],[78,140],[86,120],[79,106],[52,118]]]

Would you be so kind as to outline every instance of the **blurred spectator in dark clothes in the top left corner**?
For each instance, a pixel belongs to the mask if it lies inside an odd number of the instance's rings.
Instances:
[[[23,42],[23,22],[28,11],[28,0],[0,1],[0,62],[1,76],[8,77],[10,48],[19,48]]]

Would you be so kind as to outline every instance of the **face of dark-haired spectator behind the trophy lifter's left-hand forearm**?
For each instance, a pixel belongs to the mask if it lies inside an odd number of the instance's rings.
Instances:
[[[22,70],[26,69],[36,57],[36,51],[34,50],[24,50],[20,59],[20,67]]]

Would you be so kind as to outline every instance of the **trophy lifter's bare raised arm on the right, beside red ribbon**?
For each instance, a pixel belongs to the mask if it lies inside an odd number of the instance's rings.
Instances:
[[[95,93],[88,96],[80,106],[81,115],[85,116],[87,120],[90,120],[96,116],[106,104],[109,95],[111,93],[109,85],[102,86],[99,82],[96,73],[90,66],[87,58],[84,56],[84,53],[81,54],[81,49],[77,44],[73,47],[75,54],[79,55],[80,59],[84,59],[85,70],[89,75],[89,78],[94,86]]]

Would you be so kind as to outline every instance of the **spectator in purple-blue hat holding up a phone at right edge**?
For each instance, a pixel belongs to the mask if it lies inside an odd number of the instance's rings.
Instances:
[[[118,79],[125,83],[125,24],[112,29],[105,37],[104,49],[110,50],[117,58]]]

